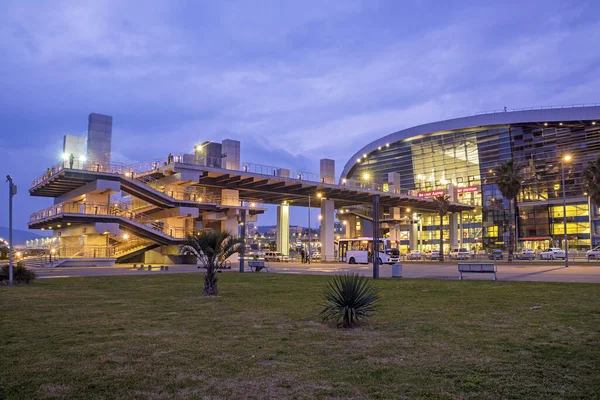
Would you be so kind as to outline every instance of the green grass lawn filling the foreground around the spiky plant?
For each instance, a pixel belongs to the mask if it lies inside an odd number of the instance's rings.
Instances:
[[[0,287],[0,399],[599,396],[599,285],[380,280],[381,312],[340,330],[318,317],[327,279]]]

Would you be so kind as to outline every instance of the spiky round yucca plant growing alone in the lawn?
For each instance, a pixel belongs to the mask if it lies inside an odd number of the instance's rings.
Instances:
[[[358,274],[334,276],[325,288],[323,299],[323,321],[343,328],[356,326],[373,315],[380,300],[373,281]]]

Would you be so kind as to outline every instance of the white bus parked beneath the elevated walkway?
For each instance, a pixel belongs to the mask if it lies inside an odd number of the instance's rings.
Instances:
[[[379,263],[394,264],[400,259],[398,241],[379,239]],[[348,264],[368,264],[373,262],[373,238],[340,239],[338,241],[338,261]]]

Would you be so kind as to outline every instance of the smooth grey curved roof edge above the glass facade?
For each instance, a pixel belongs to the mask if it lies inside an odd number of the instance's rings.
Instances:
[[[588,107],[563,107],[546,108],[537,110],[521,111],[499,111],[489,114],[479,114],[470,117],[454,118],[445,121],[431,122],[428,124],[417,125],[411,128],[391,133],[380,139],[377,139],[359,151],[348,160],[342,171],[340,179],[347,178],[350,170],[356,165],[356,159],[361,158],[363,154],[369,154],[378,147],[384,147],[386,144],[392,144],[413,136],[424,135],[441,131],[452,131],[457,129],[467,129],[481,126],[510,125],[519,123],[536,122],[561,122],[561,121],[600,121],[600,106]]]

